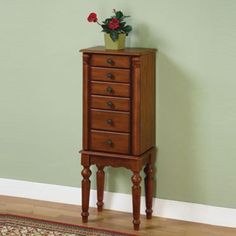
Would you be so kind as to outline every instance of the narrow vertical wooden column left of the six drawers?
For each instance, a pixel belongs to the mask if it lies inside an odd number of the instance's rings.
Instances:
[[[88,150],[88,132],[89,132],[89,54],[83,54],[83,149]]]

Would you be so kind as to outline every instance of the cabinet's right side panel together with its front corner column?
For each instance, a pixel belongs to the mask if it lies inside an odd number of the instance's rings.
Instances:
[[[132,153],[155,145],[155,54],[132,59]]]

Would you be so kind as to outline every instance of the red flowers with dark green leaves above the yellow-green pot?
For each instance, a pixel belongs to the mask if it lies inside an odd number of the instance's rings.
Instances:
[[[124,21],[127,17],[123,14],[122,11],[113,10],[114,15],[106,18],[102,21],[102,24],[98,22],[97,14],[92,12],[89,14],[87,20],[89,22],[97,23],[102,27],[102,32],[108,33],[113,42],[117,41],[119,34],[125,34],[126,36],[132,31],[130,25],[126,25]]]

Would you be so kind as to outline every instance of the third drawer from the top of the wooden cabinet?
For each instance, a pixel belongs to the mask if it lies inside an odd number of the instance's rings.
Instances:
[[[91,94],[118,97],[130,96],[130,85],[121,83],[91,82]]]

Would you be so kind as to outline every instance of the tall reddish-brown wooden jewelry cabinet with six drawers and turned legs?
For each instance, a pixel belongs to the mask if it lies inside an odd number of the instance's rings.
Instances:
[[[91,175],[97,166],[97,207],[103,208],[104,167],[132,171],[133,225],[140,225],[141,176],[152,217],[155,159],[155,49],[93,47],[83,53],[82,219],[88,221]]]

